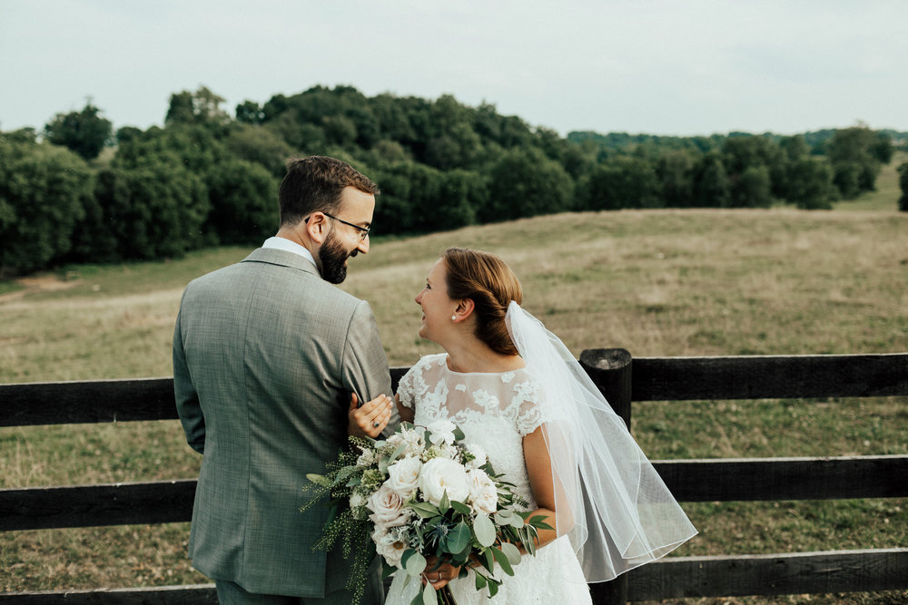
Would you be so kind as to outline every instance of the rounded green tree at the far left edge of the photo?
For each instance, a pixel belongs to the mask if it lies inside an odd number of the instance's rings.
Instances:
[[[0,276],[47,267],[69,251],[92,178],[72,151],[0,134]]]

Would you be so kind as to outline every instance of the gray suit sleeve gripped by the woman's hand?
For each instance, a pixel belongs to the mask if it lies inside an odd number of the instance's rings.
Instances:
[[[394,395],[391,392],[388,357],[381,345],[379,327],[365,300],[360,301],[350,319],[341,361],[341,375],[344,387],[356,393],[360,402],[367,402],[378,395]],[[394,410],[388,428],[385,429],[386,433],[393,433],[394,427],[399,423],[397,410]]]

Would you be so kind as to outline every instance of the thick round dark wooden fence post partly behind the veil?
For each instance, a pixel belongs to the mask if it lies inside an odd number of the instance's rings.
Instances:
[[[587,349],[580,354],[580,366],[596,383],[615,413],[630,430],[631,356],[623,348]],[[627,603],[627,573],[613,581],[589,585],[595,605]]]

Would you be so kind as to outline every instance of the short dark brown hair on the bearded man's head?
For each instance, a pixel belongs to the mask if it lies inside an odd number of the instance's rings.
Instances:
[[[312,212],[335,214],[341,206],[341,191],[354,187],[378,195],[378,186],[346,161],[322,155],[295,158],[287,162],[278,200],[281,227],[296,225]]]

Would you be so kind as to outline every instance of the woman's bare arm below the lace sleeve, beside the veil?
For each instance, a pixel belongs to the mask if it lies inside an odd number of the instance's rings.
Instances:
[[[529,488],[533,492],[538,509],[532,512],[530,518],[542,515],[545,522],[556,530],[539,530],[537,546],[545,546],[559,535],[568,533],[574,525],[574,518],[567,506],[558,510],[558,491],[563,491],[563,486],[558,482],[558,477],[552,469],[552,460],[548,454],[546,438],[546,425],[542,424],[535,431],[523,438],[523,455],[527,463]],[[562,503],[565,499],[562,494]],[[556,514],[556,512],[558,512]],[[521,550],[524,550],[521,548]]]

